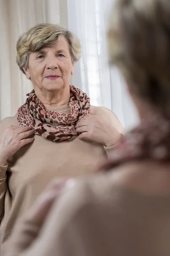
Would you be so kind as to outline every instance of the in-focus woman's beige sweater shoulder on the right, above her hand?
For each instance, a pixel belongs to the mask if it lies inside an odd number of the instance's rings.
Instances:
[[[96,107],[91,106],[91,115],[92,116],[100,116],[105,120],[109,125],[116,128],[120,134],[125,134],[125,128],[119,122],[119,119],[110,109],[105,107]]]

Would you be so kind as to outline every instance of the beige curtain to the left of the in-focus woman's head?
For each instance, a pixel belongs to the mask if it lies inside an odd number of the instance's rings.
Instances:
[[[60,22],[59,0],[0,0],[0,120],[13,116],[32,89],[15,62],[17,39],[43,22]]]

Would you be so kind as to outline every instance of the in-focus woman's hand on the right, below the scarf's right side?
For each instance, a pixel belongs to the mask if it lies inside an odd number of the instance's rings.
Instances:
[[[116,145],[122,135],[108,125],[100,116],[86,116],[75,126],[80,140],[91,140],[107,147]]]

